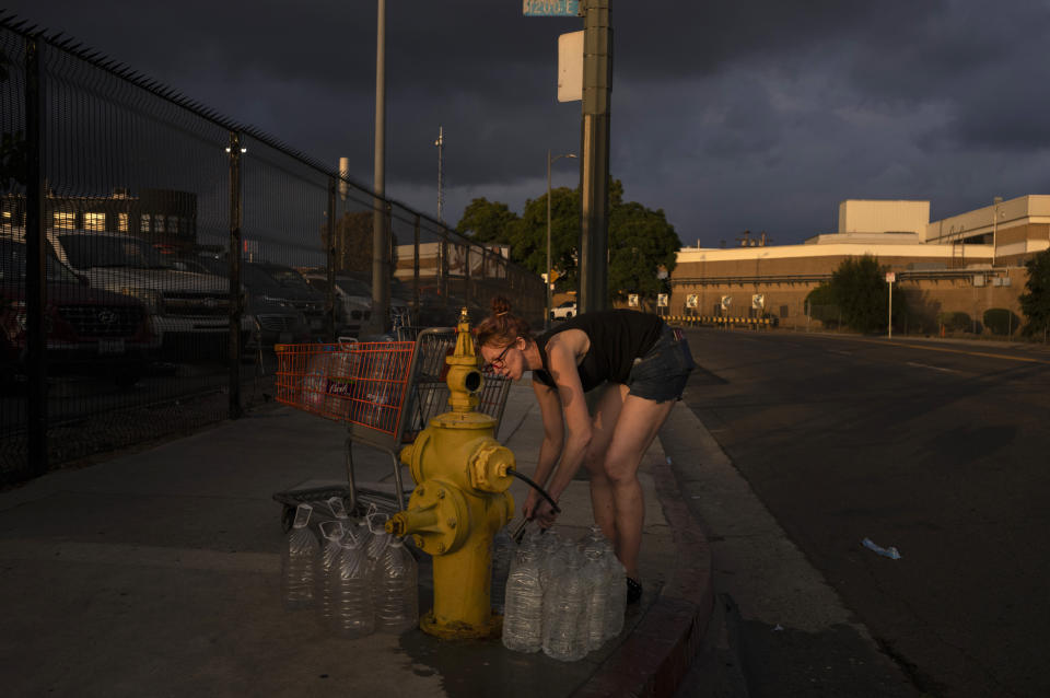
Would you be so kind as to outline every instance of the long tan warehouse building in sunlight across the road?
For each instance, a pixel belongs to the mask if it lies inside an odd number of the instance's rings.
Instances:
[[[801,245],[682,247],[670,278],[670,315],[773,317],[814,324],[806,296],[850,257],[872,255],[908,300],[908,329],[934,331],[945,313],[965,313],[980,331],[984,311],[1020,316],[1025,260],[1050,247],[1050,196],[1028,195],[940,221],[929,201],[850,199],[836,233]]]

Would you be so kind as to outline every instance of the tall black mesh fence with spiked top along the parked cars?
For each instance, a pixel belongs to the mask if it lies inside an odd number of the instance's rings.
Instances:
[[[10,16],[0,61],[0,482],[240,416],[275,344],[542,318],[508,248],[127,68]]]

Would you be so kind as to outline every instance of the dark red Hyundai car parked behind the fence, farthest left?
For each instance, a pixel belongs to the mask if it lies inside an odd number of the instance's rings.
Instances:
[[[52,254],[46,263],[44,328],[49,373],[104,372],[118,385],[142,376],[158,337],[145,305],[93,289]],[[0,237],[0,365],[5,379],[24,369],[27,341],[25,243]]]

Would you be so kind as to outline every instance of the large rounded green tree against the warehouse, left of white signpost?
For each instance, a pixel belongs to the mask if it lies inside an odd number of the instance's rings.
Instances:
[[[843,259],[831,275],[831,295],[842,322],[858,331],[877,331],[886,325],[888,289],[885,268],[871,255]],[[903,293],[894,296],[894,317],[905,312]]]

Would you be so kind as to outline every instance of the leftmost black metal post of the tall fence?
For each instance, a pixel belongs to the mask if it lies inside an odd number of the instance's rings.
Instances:
[[[47,342],[44,329],[44,307],[47,303],[45,276],[44,218],[44,100],[40,89],[40,42],[25,39],[25,313],[26,358],[28,374],[26,417],[28,418],[30,475],[47,472]]]

